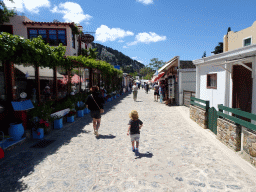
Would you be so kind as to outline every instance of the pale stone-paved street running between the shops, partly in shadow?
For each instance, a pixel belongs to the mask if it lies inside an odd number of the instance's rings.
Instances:
[[[140,155],[126,135],[128,114],[144,122]],[[244,191],[256,192],[256,169],[189,119],[139,90],[107,103],[99,139],[88,115],[48,138],[45,149],[26,143],[0,163],[0,191]],[[1,190],[2,189],[2,190]]]

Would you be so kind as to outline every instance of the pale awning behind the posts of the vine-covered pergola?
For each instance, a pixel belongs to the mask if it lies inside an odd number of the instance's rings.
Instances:
[[[24,67],[23,65],[14,64],[14,67],[24,73],[27,79],[35,79],[35,68],[33,66]],[[53,69],[39,67],[39,77],[41,80],[53,80]],[[57,72],[57,79],[62,78],[63,76]]]

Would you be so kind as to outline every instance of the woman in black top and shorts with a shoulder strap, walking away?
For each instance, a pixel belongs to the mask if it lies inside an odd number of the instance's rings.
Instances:
[[[104,98],[99,92],[99,87],[92,86],[90,90],[92,94],[87,97],[85,104],[91,111],[94,134],[96,137],[99,137],[98,130],[100,127],[101,113],[104,112]]]

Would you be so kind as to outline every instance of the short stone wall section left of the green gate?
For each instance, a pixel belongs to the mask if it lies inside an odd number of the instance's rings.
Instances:
[[[189,115],[198,125],[207,129],[207,113],[204,109],[190,105]]]

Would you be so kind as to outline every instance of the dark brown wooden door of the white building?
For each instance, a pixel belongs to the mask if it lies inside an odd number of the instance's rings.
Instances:
[[[246,64],[252,68],[252,64]],[[252,108],[252,72],[241,65],[233,66],[232,107],[251,112]]]

